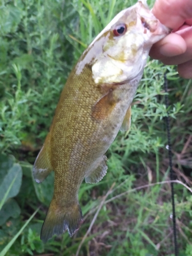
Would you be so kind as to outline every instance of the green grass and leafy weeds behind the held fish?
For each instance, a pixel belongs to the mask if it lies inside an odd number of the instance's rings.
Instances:
[[[153,59],[148,59],[133,102],[131,130],[119,133],[107,153],[108,174],[98,184],[81,185],[81,228],[73,238],[66,232],[47,244],[39,239],[54,174],[36,184],[31,169],[60,92],[83,50],[120,10],[135,2],[1,0],[1,256],[174,255],[164,73],[169,87],[173,168],[175,177],[189,186],[192,87],[191,80],[181,79],[175,67]],[[151,8],[153,4],[148,1]],[[175,184],[175,200],[179,255],[190,256],[192,196],[187,187]]]

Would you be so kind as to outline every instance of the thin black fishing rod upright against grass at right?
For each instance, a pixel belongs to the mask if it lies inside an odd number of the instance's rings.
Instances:
[[[168,94],[167,94],[168,82],[166,78],[166,73],[164,74],[164,89],[165,89],[165,105],[166,110],[168,109]],[[166,146],[168,150],[169,167],[170,167],[170,180],[174,180],[173,164],[172,164],[172,145],[170,143],[170,118],[167,111],[167,116],[165,117],[166,130],[167,130],[167,143]],[[172,193],[172,211],[173,211],[173,231],[174,231],[174,246],[175,246],[175,256],[178,256],[178,244],[177,244],[177,230],[176,230],[176,215],[175,215],[175,199],[174,199],[174,183],[170,183],[171,193]]]

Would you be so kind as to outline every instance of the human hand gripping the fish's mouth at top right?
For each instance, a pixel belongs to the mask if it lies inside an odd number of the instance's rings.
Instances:
[[[150,56],[178,65],[180,76],[192,78],[192,1],[156,0],[152,12],[173,32],[153,45]]]

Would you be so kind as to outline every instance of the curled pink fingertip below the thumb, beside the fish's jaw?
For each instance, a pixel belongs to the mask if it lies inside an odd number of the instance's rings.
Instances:
[[[165,56],[176,56],[186,51],[186,42],[181,35],[172,33],[157,42],[151,51],[150,56],[154,59],[164,59]]]

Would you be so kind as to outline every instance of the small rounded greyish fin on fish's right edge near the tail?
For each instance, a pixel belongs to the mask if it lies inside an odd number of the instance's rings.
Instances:
[[[97,183],[106,174],[106,170],[108,169],[108,166],[106,166],[106,156],[103,156],[101,162],[97,166],[96,169],[94,169],[89,176],[86,177],[87,183]]]

